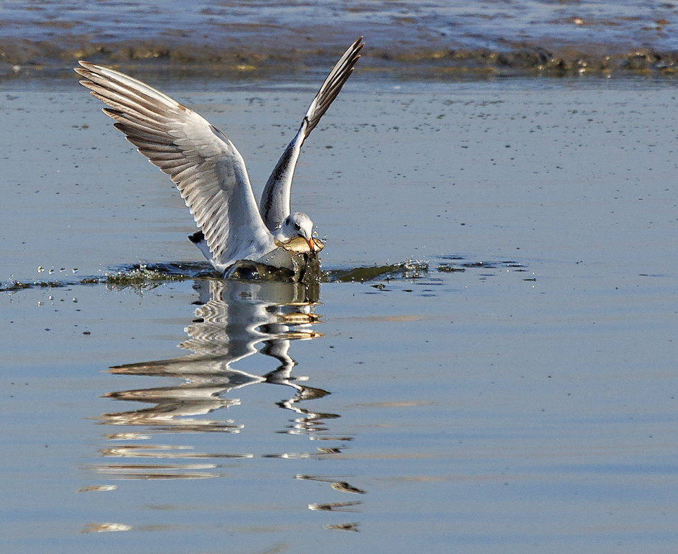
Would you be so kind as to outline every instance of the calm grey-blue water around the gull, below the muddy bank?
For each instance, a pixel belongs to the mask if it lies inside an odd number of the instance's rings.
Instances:
[[[314,92],[176,86],[257,193]],[[675,90],[398,86],[304,145],[317,299],[205,275],[77,85],[0,96],[7,551],[674,550]]]

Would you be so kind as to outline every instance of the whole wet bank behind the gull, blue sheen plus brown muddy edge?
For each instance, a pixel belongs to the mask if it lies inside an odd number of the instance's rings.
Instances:
[[[230,79],[313,73],[365,36],[363,71],[405,79],[493,75],[673,77],[671,3],[10,3],[0,77],[63,75],[77,61]]]

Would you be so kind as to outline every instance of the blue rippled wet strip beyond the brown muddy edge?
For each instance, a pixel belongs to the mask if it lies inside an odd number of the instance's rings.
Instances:
[[[502,51],[520,44],[547,50],[567,46],[598,54],[678,48],[677,6],[650,0],[316,0],[291,5],[204,0],[48,0],[39,5],[6,1],[0,8],[0,21],[0,39],[46,41],[55,46],[55,54],[65,45],[163,39],[193,46],[250,46],[263,48],[269,55],[285,55],[295,48],[336,48],[358,35],[365,35],[369,48],[379,52]],[[44,55],[49,55],[48,50]]]

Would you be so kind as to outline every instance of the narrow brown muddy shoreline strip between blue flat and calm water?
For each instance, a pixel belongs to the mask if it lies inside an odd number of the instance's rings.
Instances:
[[[297,41],[294,48],[288,48],[290,43],[284,37],[269,37],[256,43],[242,37],[233,41],[235,44],[196,43],[183,37],[125,41],[70,37],[59,46],[50,41],[0,39],[0,79],[71,77],[71,68],[78,59],[116,66],[122,71],[143,68],[146,74],[164,73],[173,79],[219,75],[249,80],[291,74],[303,78],[315,75],[319,68],[324,71],[336,61],[347,43],[342,38],[306,39]],[[373,42],[365,48],[360,71],[404,80],[678,75],[678,51],[646,46],[624,50],[600,44],[546,48],[506,41],[502,48],[455,48],[444,41],[438,43],[427,41],[414,46],[405,42],[390,45]]]

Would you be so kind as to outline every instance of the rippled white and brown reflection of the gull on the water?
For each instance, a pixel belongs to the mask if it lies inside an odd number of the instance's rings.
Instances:
[[[210,479],[222,476],[223,459],[255,456],[318,459],[340,454],[342,447],[333,445],[316,447],[308,452],[255,454],[198,452],[193,445],[176,444],[177,436],[186,437],[190,433],[243,431],[245,425],[225,418],[223,409],[240,405],[241,401],[231,398],[231,393],[257,384],[282,385],[292,391],[290,398],[277,403],[278,407],[293,414],[286,427],[278,433],[303,434],[313,441],[336,441],[339,444],[352,440],[350,436],[332,436],[327,421],[340,417],[338,414],[319,412],[306,404],[329,392],[309,387],[305,384],[306,378],[293,376],[297,364],[290,355],[293,341],[322,336],[316,331],[320,323],[320,316],[315,313],[319,293],[317,285],[199,280],[194,288],[199,293],[195,317],[185,328],[187,339],[178,345],[192,353],[109,368],[117,375],[174,378],[176,383],[105,394],[111,400],[133,402],[136,406],[127,411],[102,414],[98,418],[100,424],[114,425],[119,430],[107,434],[110,442],[99,450],[107,461],[89,465],[87,469],[104,479]],[[268,366],[274,369],[261,374],[256,370],[244,371],[241,366],[245,362],[248,362],[246,367],[253,367],[253,362],[256,362],[255,367],[268,362]],[[141,407],[138,406],[140,403]],[[159,436],[166,436],[167,440],[154,440]],[[218,444],[219,448],[228,448],[230,443],[218,441]],[[293,478],[322,481],[334,491],[352,495],[366,492],[337,477],[297,475]],[[100,487],[82,490],[100,490]],[[324,502],[308,504],[308,507],[314,511],[353,512],[359,510],[361,504],[361,501]],[[357,524],[342,525],[358,530]]]

